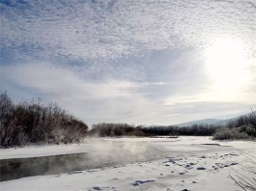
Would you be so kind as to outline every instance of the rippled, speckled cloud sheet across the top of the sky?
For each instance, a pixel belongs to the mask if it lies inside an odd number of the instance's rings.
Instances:
[[[254,1],[2,1],[2,48],[41,58],[115,60],[239,36],[255,52]]]

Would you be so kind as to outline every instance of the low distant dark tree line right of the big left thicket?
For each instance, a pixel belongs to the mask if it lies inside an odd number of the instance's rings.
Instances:
[[[156,137],[156,136],[213,136],[213,139],[255,139],[256,115],[254,112],[220,124],[192,124],[179,127],[177,125],[131,125],[128,123],[93,124],[88,132],[90,136],[99,137]]]

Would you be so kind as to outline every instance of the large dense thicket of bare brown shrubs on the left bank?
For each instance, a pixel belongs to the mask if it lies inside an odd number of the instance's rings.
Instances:
[[[80,142],[87,129],[85,123],[67,114],[56,103],[45,106],[39,99],[14,104],[6,92],[0,94],[1,148]]]

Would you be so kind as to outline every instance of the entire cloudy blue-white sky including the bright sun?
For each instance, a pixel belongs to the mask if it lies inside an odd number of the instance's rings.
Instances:
[[[255,0],[0,0],[1,91],[93,123],[256,108]]]

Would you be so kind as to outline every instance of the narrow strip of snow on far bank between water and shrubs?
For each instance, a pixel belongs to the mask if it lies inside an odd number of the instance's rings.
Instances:
[[[70,154],[70,153],[83,153],[92,151],[111,150],[111,147],[106,147],[111,144],[110,142],[123,142],[123,143],[150,143],[151,145],[159,145],[163,147],[171,147],[172,150],[182,151],[182,147],[192,144],[207,144],[215,143],[210,137],[180,137],[180,138],[94,138],[87,139],[84,144],[72,144],[72,145],[47,145],[47,146],[27,146],[23,148],[11,148],[0,150],[0,159],[8,158],[27,158],[27,157],[39,157],[58,154]],[[130,149],[130,144],[127,144]],[[195,146],[194,146],[195,147]],[[186,150],[185,150],[186,151]]]

